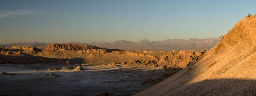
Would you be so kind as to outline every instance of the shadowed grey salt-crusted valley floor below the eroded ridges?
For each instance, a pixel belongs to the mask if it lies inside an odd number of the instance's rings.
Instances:
[[[47,70],[48,68],[76,67],[55,64],[1,64],[0,95],[88,95],[108,92],[112,95],[132,95],[148,87],[141,84],[148,78],[156,79],[175,70],[153,70],[149,67],[108,67],[82,64],[82,71]],[[49,77],[46,74],[61,77]]]

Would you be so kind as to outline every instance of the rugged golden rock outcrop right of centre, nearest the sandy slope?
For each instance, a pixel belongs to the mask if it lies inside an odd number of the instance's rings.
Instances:
[[[140,59],[130,60],[126,66],[152,66],[157,69],[172,68],[183,69],[188,64],[201,59],[205,52],[194,50],[179,51],[113,51],[112,54],[125,54],[128,57],[137,57]],[[130,56],[129,56],[130,55]]]

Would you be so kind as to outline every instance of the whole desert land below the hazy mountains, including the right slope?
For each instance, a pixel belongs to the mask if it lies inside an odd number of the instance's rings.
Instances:
[[[255,24],[244,17],[201,51],[1,46],[1,95],[255,95]]]

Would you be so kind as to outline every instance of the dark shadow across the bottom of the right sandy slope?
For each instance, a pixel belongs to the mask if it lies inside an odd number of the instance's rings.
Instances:
[[[160,95],[160,94],[159,94]],[[192,84],[184,84],[170,90],[167,96],[255,96],[256,80],[246,79],[212,79]]]

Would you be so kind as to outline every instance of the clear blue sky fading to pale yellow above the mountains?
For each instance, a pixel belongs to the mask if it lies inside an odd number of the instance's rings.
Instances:
[[[0,0],[0,44],[225,35],[255,0]]]

